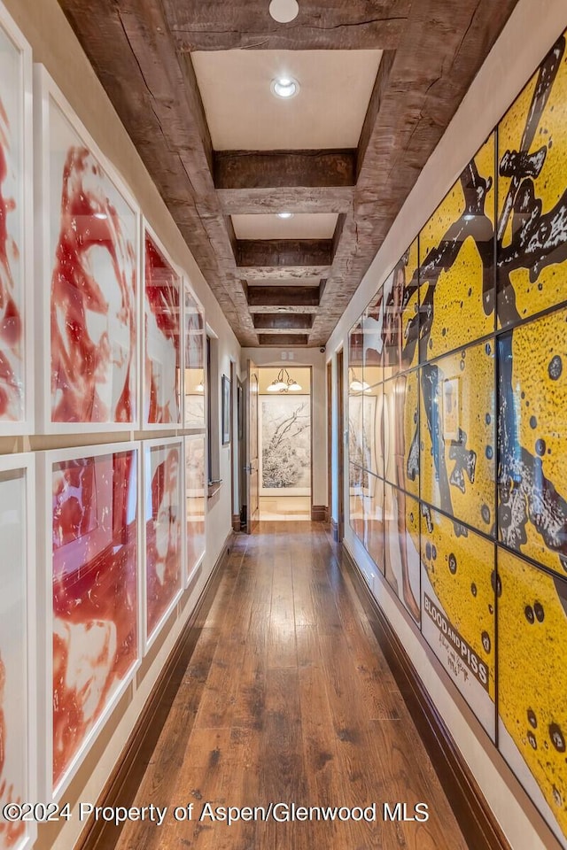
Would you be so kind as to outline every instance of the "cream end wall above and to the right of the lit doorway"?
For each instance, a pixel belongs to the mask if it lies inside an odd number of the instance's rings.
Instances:
[[[282,352],[286,359],[282,359]],[[289,359],[289,354],[293,359]],[[327,385],[325,377],[325,354],[318,348],[243,348],[241,368],[246,370],[247,359],[256,366],[276,366],[292,369],[296,366],[313,368],[313,493],[314,505],[327,505]]]

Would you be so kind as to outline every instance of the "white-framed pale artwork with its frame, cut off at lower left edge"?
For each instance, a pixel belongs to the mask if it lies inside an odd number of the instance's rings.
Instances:
[[[0,808],[37,799],[35,459],[0,458]],[[0,819],[0,848],[24,850],[35,823]]]

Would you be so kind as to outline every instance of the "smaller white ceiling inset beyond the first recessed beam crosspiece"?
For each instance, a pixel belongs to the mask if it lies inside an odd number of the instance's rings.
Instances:
[[[337,213],[295,213],[280,219],[272,213],[232,215],[237,239],[332,239]]]

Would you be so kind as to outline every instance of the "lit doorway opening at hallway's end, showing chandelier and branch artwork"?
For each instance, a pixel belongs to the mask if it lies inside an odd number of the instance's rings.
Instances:
[[[260,367],[260,521],[311,519],[311,367]]]

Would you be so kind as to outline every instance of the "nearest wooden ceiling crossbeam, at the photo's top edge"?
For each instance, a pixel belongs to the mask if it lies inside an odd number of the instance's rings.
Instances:
[[[395,50],[411,0],[299,4],[278,24],[267,0],[162,0],[178,50]]]

